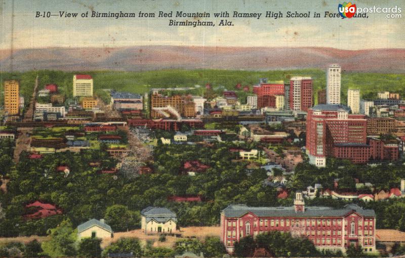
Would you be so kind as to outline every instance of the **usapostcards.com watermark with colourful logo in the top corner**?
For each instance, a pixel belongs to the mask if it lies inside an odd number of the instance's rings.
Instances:
[[[342,19],[352,18],[352,17],[366,17],[368,14],[386,14],[385,18],[402,18],[401,8],[398,6],[394,7],[357,7],[356,5],[349,3],[339,4],[338,10]]]

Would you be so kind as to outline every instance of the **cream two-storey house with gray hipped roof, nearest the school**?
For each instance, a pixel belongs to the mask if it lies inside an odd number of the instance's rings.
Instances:
[[[176,232],[176,213],[164,207],[149,206],[141,211],[141,228],[145,234]]]

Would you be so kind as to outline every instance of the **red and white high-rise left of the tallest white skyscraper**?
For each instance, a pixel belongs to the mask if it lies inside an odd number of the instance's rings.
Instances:
[[[290,79],[290,109],[294,111],[308,111],[313,106],[312,78],[292,77]]]

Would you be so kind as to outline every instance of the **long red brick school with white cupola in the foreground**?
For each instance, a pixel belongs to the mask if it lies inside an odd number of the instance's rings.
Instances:
[[[307,237],[318,249],[341,250],[350,245],[376,251],[376,214],[355,204],[342,208],[306,207],[301,192],[294,206],[249,207],[229,205],[221,211],[221,241],[228,252],[242,237],[268,231],[290,232]]]

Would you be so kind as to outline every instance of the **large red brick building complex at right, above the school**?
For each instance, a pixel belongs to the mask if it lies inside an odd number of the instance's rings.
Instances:
[[[309,109],[306,136],[309,162],[325,167],[327,157],[349,159],[353,163],[398,159],[396,141],[368,139],[367,131],[366,116],[350,114],[347,106],[317,105]]]

